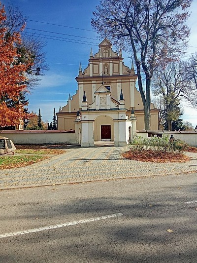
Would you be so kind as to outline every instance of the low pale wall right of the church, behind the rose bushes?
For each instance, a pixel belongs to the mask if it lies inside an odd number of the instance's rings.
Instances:
[[[151,136],[167,136],[173,134],[174,139],[179,139],[186,142],[190,146],[197,147],[197,131],[136,131],[136,135],[148,138]]]

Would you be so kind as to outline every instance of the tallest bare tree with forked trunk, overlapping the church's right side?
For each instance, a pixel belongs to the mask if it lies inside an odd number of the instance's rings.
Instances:
[[[176,59],[189,37],[185,22],[192,0],[100,0],[93,28],[101,37],[132,52],[144,106],[145,129],[150,129],[151,79],[158,65]],[[145,88],[142,83],[145,74]]]

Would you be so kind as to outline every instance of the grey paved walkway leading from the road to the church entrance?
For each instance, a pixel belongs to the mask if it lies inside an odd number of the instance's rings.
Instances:
[[[197,172],[197,153],[186,163],[124,159],[127,147],[70,148],[36,164],[0,170],[0,189]]]

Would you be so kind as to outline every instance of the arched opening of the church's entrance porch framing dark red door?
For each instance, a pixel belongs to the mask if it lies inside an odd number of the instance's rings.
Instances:
[[[114,122],[108,115],[100,115],[94,120],[95,141],[114,141]]]

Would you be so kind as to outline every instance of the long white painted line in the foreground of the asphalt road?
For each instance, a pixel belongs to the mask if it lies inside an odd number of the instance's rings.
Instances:
[[[103,220],[103,219],[113,218],[113,217],[120,217],[120,216],[123,216],[123,214],[118,213],[118,214],[112,214],[112,215],[107,215],[107,216],[102,216],[102,217],[89,218],[89,219],[84,219],[84,220],[79,220],[79,221],[74,221],[74,222],[68,222],[68,223],[64,223],[61,225],[48,225],[48,226],[44,226],[40,228],[34,228],[34,229],[28,229],[28,230],[23,230],[23,231],[18,231],[18,232],[1,234],[0,238],[8,237],[8,236],[15,236],[15,235],[29,234],[29,233],[39,232],[43,230],[55,229],[55,228],[69,226],[69,225],[78,225],[82,223],[93,222],[93,221],[98,221],[98,220]]]

